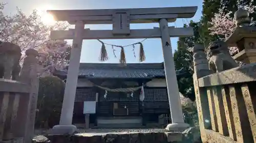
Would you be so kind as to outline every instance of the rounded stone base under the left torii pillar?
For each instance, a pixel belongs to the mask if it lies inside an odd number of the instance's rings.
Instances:
[[[78,133],[78,129],[74,125],[56,125],[48,131],[47,134],[75,134]]]

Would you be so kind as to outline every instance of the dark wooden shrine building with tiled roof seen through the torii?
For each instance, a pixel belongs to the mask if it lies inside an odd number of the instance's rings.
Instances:
[[[54,75],[65,79],[67,72]],[[169,115],[163,63],[80,63],[72,120],[78,128],[166,125]]]

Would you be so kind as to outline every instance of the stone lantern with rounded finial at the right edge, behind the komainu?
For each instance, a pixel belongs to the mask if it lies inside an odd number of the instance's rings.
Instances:
[[[250,26],[251,19],[246,10],[239,9],[234,18],[237,27],[226,40],[229,47],[238,47],[239,52],[233,59],[246,64],[256,63],[256,26]]]

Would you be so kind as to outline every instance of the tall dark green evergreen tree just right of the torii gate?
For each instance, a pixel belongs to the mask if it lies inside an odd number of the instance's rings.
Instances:
[[[214,14],[218,12],[220,7],[220,0],[211,1],[205,0],[203,3],[203,16],[199,22],[190,21],[188,25],[194,29],[194,35],[191,37],[179,38],[177,50],[174,52],[174,61],[176,69],[185,68],[188,72],[186,76],[178,80],[179,91],[184,97],[195,101],[195,91],[193,84],[193,53],[191,49],[196,43],[203,44],[205,47],[209,42],[218,39],[217,36],[209,35],[208,27],[210,26],[208,21],[214,17]],[[190,51],[189,51],[190,49]]]

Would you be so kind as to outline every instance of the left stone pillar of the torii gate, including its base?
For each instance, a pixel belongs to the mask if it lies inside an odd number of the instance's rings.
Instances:
[[[76,96],[77,79],[80,66],[80,56],[82,50],[82,34],[84,22],[75,23],[74,39],[72,43],[68,76],[66,80],[65,93],[62,102],[59,125],[50,130],[50,134],[73,134],[78,131],[76,126],[72,125],[73,111]]]

